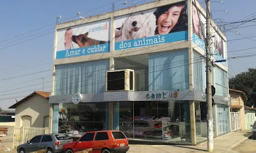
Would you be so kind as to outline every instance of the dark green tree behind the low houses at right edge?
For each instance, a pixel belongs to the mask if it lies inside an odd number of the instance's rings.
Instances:
[[[247,106],[256,106],[256,68],[248,68],[247,71],[239,73],[229,79],[229,87],[241,90],[247,95]]]

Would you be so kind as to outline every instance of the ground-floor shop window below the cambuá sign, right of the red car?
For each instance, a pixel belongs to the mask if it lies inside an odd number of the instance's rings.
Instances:
[[[120,102],[120,130],[129,139],[191,143],[187,101]]]

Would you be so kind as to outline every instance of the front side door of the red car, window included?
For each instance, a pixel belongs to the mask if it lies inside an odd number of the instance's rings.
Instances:
[[[84,134],[74,145],[76,151],[92,148],[92,142],[94,139],[95,132],[89,132]]]

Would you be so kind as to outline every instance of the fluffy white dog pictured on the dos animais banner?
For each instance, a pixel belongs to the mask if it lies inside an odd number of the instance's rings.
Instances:
[[[116,41],[135,40],[154,36],[155,28],[157,28],[156,20],[153,13],[139,14],[126,18],[125,23],[122,24],[119,31],[121,35],[116,37]]]

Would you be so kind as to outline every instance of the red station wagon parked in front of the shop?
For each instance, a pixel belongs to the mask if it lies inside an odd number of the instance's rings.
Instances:
[[[128,139],[120,130],[86,132],[77,141],[63,145],[64,153],[92,149],[89,153],[125,153],[130,147]]]

